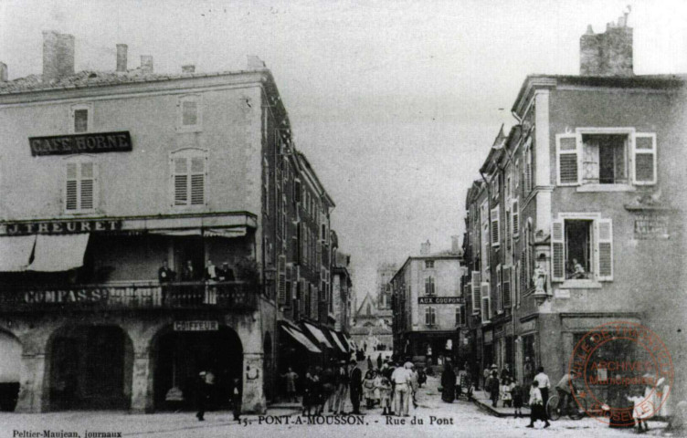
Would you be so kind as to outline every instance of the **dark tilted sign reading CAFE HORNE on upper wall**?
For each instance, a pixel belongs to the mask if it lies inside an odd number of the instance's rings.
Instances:
[[[90,134],[29,137],[31,155],[71,155],[74,153],[126,152],[132,150],[128,130]]]

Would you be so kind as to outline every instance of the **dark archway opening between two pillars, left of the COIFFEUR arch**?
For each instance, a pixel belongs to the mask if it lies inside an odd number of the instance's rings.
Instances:
[[[128,409],[132,394],[132,339],[115,325],[69,325],[48,340],[51,411]]]

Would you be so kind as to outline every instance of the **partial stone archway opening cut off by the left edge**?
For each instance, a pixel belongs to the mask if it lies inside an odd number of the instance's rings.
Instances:
[[[0,411],[14,411],[19,397],[22,344],[0,330]]]

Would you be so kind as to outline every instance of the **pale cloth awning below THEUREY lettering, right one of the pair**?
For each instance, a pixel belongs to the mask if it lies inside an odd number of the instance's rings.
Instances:
[[[58,272],[69,271],[83,266],[83,255],[89,245],[89,234],[79,235],[38,235],[34,261],[29,271]]]

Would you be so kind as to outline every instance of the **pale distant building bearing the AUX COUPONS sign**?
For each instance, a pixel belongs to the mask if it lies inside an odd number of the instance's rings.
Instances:
[[[437,364],[457,360],[466,308],[460,290],[462,256],[453,251],[409,256],[391,279],[394,353],[399,358]]]

